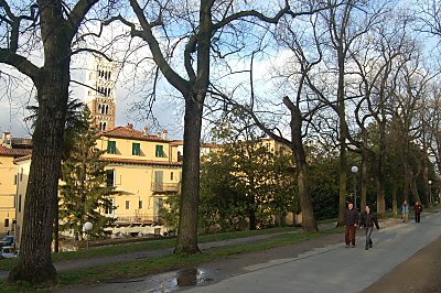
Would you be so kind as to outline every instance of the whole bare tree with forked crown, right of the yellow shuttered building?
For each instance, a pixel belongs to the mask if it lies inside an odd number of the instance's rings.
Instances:
[[[280,9],[266,7],[267,13],[259,12],[258,4],[252,7],[247,1],[236,3],[201,0],[197,6],[194,2],[154,1],[154,6],[150,7],[150,2],[146,1],[129,2],[139,23],[129,22],[121,15],[110,21],[121,21],[130,28],[131,36],[141,37],[147,42],[159,70],[185,100],[182,196],[175,253],[198,252],[200,140],[212,65],[215,64],[215,59],[236,54],[247,45],[245,36],[251,30],[245,32],[239,24],[255,24],[255,28],[259,28],[262,23],[277,23],[287,13],[295,17],[311,12],[292,12],[288,0],[280,1]],[[185,29],[189,30],[184,31]],[[178,45],[170,41],[171,36],[175,36],[174,40],[178,40],[179,44],[185,42],[181,56],[183,74],[186,76],[173,68],[172,57],[176,54],[174,48]],[[161,43],[161,40],[164,40],[165,44]],[[226,53],[223,53],[225,51]]]

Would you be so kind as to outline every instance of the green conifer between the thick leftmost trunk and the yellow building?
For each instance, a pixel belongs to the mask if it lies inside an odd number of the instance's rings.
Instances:
[[[106,163],[100,160],[105,151],[96,148],[98,129],[92,126],[87,107],[84,108],[82,119],[88,121],[89,127],[74,135],[75,143],[62,165],[61,230],[82,235],[84,223],[90,221],[94,225],[92,234],[99,235],[112,221],[103,211],[114,208],[108,197],[114,187],[106,184]]]

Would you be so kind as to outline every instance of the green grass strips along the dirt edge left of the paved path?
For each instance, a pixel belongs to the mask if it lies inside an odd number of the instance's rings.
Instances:
[[[230,232],[230,234],[218,234],[218,235],[209,235],[209,236],[202,236],[200,242],[208,242],[214,240],[225,240],[225,239],[233,239],[233,238],[241,238],[241,237],[249,237],[255,235],[262,235],[262,234],[278,234],[283,231],[293,231],[297,230],[295,228],[277,228],[277,229],[267,229],[267,230],[259,230],[259,231],[241,231],[241,232]],[[238,246],[229,246],[229,247],[218,247],[218,248],[211,248],[204,250],[203,253],[191,254],[191,256],[174,256],[169,254],[164,257],[159,257],[154,259],[146,259],[143,260],[135,260],[128,261],[123,263],[118,263],[118,265],[97,265],[94,268],[88,269],[80,269],[80,270],[73,270],[68,272],[61,272],[58,273],[58,285],[74,285],[74,284],[87,284],[87,283],[96,283],[96,282],[104,282],[115,279],[130,279],[137,278],[150,273],[159,273],[170,270],[176,270],[186,267],[194,267],[201,264],[203,262],[219,259],[219,258],[227,258],[229,256],[235,256],[238,253],[245,252],[252,252],[265,250],[275,247],[282,247],[287,245],[292,245],[297,242],[301,242],[308,239],[313,239],[316,237],[321,237],[329,234],[335,234],[343,231],[342,228],[324,230],[319,232],[299,232],[299,234],[282,234],[282,235],[275,235],[271,238],[266,238],[259,241],[250,242],[250,243],[241,243]],[[140,245],[144,246],[153,246],[153,249],[158,248],[168,248],[174,246],[174,239],[166,239],[157,241],[153,243],[128,243],[121,245],[123,247],[123,252],[128,252],[128,247],[135,246],[138,247]],[[149,241],[150,242],[150,241]],[[162,243],[162,245],[160,245]],[[106,248],[94,248],[89,249],[89,251],[76,251],[76,252],[65,252],[71,254],[71,259],[80,259],[85,257],[97,257],[101,256],[103,251],[107,251],[107,253],[111,253],[110,251],[116,249],[116,247],[106,247]],[[133,248],[135,249],[135,248]],[[143,249],[149,249],[143,247]],[[138,249],[138,251],[141,249]],[[99,251],[99,252],[97,252]],[[130,250],[137,251],[137,250]],[[120,252],[120,253],[123,253]],[[62,254],[58,253],[56,257],[54,256],[54,260],[63,259]],[[88,253],[88,254],[87,254]],[[6,282],[1,282],[0,291],[1,292],[29,292],[33,290],[26,284],[20,285],[10,285]],[[49,287],[41,287],[40,290],[45,291],[50,290]]]

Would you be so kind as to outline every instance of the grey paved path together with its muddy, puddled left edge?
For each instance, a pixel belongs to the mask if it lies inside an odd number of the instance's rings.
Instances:
[[[359,235],[359,232],[358,232]],[[387,228],[373,234],[374,248],[364,250],[363,236],[358,247],[346,249],[338,241],[313,250],[305,250],[292,258],[257,261],[252,265],[236,270],[216,271],[216,267],[204,264],[196,272],[207,275],[222,274],[215,280],[204,280],[197,286],[179,286],[176,275],[168,272],[136,280],[82,287],[83,292],[361,292],[387,275],[397,265],[406,262],[420,249],[441,236],[441,213],[430,214],[421,224],[388,223]],[[343,237],[343,236],[341,236]],[[335,238],[335,237],[334,237]],[[334,243],[336,242],[334,239]],[[283,249],[283,248],[282,248]],[[284,248],[289,256],[289,248]],[[439,250],[438,250],[439,251]],[[258,256],[258,254],[257,254]],[[228,260],[226,260],[228,262]],[[212,271],[209,271],[212,270]],[[405,276],[411,278],[411,276]],[[75,292],[62,289],[61,292]],[[389,291],[370,291],[389,292]],[[390,291],[394,292],[394,291]],[[399,291],[398,291],[399,292]],[[432,291],[437,292],[437,291]]]

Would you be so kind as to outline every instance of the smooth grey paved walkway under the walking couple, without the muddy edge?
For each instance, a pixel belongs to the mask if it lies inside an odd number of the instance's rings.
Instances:
[[[186,292],[361,292],[440,236],[441,214],[433,214],[420,224],[374,231],[374,248],[367,251],[362,245],[354,249],[333,245],[248,267],[244,274]]]

